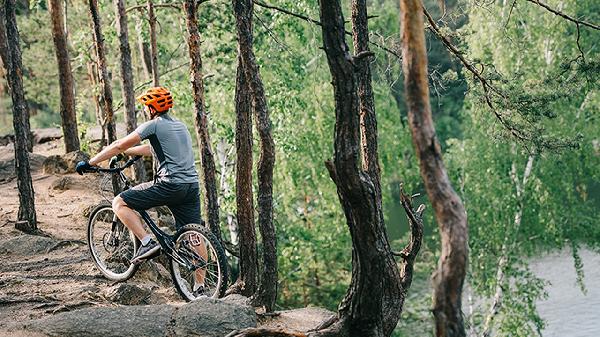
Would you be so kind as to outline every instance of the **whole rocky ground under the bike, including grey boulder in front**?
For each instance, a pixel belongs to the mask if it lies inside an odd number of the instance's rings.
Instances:
[[[43,236],[16,230],[19,204],[12,149],[10,143],[0,146],[0,335],[9,329],[11,335],[219,336],[257,324],[243,299],[184,304],[159,263],[145,263],[126,283],[103,278],[89,257],[85,236],[89,209],[106,195],[102,180],[71,173],[81,155],[59,157],[60,140],[37,144],[31,155]],[[330,315],[302,309],[259,317],[258,324],[302,331]],[[134,317],[149,330],[123,330]]]

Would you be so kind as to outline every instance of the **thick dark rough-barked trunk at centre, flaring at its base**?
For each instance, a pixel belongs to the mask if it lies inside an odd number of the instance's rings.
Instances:
[[[365,156],[369,155],[371,149],[376,151],[376,146],[369,143],[376,142],[376,135],[373,138],[369,134],[374,130],[375,121],[362,119],[365,131],[361,133],[359,79],[356,73],[361,71],[356,69],[356,65],[361,65],[363,58],[370,53],[359,53],[354,58],[350,56],[339,0],[322,0],[320,7],[325,53],[333,78],[336,114],[334,160],[327,162],[327,168],[344,209],[352,237],[353,255],[352,281],[340,304],[338,317],[315,335],[388,336],[400,317],[406,289],[402,287],[403,279],[385,233],[381,198],[375,187],[379,182],[379,172],[376,169],[364,171],[359,167],[361,147],[367,149]],[[370,78],[366,80],[370,81]],[[368,104],[368,101],[365,99],[364,103]],[[376,168],[376,160],[369,162],[373,156],[376,158],[376,153],[370,155],[363,162],[373,164],[371,167]],[[371,174],[375,175],[374,179]],[[406,272],[412,273],[412,268]],[[410,285],[410,282],[406,282],[406,285]]]

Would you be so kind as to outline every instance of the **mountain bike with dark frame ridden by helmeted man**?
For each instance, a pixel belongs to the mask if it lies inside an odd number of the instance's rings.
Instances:
[[[118,166],[113,158],[109,168],[92,167],[87,172],[113,175],[113,185],[131,187],[123,171],[141,158],[129,159]],[[187,224],[175,234],[161,230],[145,210],[136,210],[150,228],[160,244],[161,252],[168,257],[169,271],[177,292],[186,301],[207,296],[218,298],[227,287],[227,258],[217,238],[200,224]],[[96,206],[89,216],[87,240],[90,254],[96,267],[112,281],[123,282],[131,278],[139,265],[131,263],[140,241],[116,216],[110,204]],[[195,283],[204,278],[202,292],[198,293]]]

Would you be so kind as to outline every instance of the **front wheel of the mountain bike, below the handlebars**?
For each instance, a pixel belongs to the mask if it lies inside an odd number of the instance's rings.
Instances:
[[[138,266],[130,261],[139,241],[111,205],[102,203],[90,213],[87,239],[92,260],[107,279],[122,282],[135,274]]]

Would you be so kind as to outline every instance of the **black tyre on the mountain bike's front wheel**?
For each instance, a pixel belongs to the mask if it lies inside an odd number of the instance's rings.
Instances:
[[[128,280],[129,278],[131,278],[135,272],[138,270],[139,266],[138,265],[134,265],[134,264],[129,264],[126,265],[125,261],[128,262],[128,260],[130,260],[133,257],[133,254],[135,254],[135,252],[137,251],[138,247],[139,247],[139,240],[137,240],[135,238],[135,236],[133,235],[133,233],[131,233],[127,227],[125,227],[124,225],[121,224],[121,226],[123,226],[125,232],[123,232],[122,238],[121,239],[126,239],[129,240],[129,242],[132,243],[132,246],[130,245],[120,245],[118,244],[118,246],[115,248],[119,249],[121,253],[121,251],[123,253],[121,254],[125,254],[126,256],[121,256],[121,261],[119,263],[112,263],[112,262],[108,262],[105,261],[105,259],[100,255],[100,251],[99,251],[99,247],[97,247],[97,244],[99,242],[102,242],[102,246],[104,248],[104,250],[106,250],[106,245],[104,242],[105,239],[105,235],[108,234],[107,230],[97,230],[96,234],[102,235],[102,241],[98,241],[98,239],[100,239],[99,237],[97,237],[97,235],[95,236],[95,229],[98,229],[98,226],[96,226],[96,224],[99,221],[99,217],[101,216],[105,217],[104,221],[107,221],[109,218],[111,219],[111,221],[119,221],[116,218],[116,214],[114,213],[114,211],[112,210],[112,206],[107,203],[107,202],[102,202],[100,203],[98,206],[96,206],[91,212],[90,212],[90,216],[88,219],[88,227],[87,227],[87,241],[88,241],[88,248],[90,251],[90,256],[92,257],[92,261],[94,262],[94,264],[96,265],[96,267],[100,270],[100,272],[104,275],[104,277],[106,277],[107,279],[111,280],[111,281],[117,281],[117,282],[123,282]],[[106,232],[105,234],[101,234],[102,232]],[[125,233],[127,233],[127,235],[125,235]],[[112,255],[109,255],[109,258],[112,257]],[[119,258],[119,256],[117,256],[117,258]],[[126,260],[127,259],[127,260]],[[109,265],[110,263],[110,265]],[[121,268],[118,268],[118,266],[121,266]],[[125,268],[127,267],[127,268]],[[122,270],[121,270],[122,269]]]

